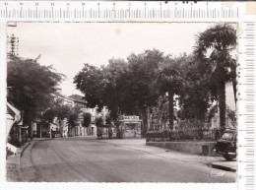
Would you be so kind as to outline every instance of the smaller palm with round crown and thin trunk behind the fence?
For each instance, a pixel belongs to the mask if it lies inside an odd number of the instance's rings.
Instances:
[[[161,95],[168,94],[169,128],[173,129],[174,101],[173,96],[179,95],[183,86],[183,79],[180,72],[172,67],[160,69],[154,87]]]

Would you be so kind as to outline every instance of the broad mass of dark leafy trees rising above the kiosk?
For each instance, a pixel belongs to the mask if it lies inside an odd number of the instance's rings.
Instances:
[[[112,58],[100,68],[85,64],[74,83],[85,94],[90,107],[106,105],[114,119],[123,113],[139,114],[146,120],[147,109],[158,99],[151,84],[163,60],[162,52],[153,49],[138,55],[132,53],[127,60]]]

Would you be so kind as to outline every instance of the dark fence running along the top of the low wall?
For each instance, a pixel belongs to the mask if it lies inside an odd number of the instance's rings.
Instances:
[[[221,136],[221,130],[190,129],[179,131],[148,132],[146,138],[147,142],[216,141]]]

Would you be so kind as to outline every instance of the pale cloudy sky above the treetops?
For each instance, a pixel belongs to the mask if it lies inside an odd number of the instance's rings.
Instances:
[[[133,52],[159,49],[178,56],[193,51],[195,35],[214,23],[18,23],[8,34],[19,37],[19,56],[53,65],[67,76],[63,95],[82,95],[73,78],[84,63],[107,65],[110,58],[125,59]]]

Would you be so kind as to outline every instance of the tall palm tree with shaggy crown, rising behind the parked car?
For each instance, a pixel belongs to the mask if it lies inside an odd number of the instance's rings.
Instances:
[[[225,128],[225,83],[235,81],[236,62],[231,51],[236,47],[236,30],[230,24],[219,24],[197,36],[194,53],[211,71],[212,93],[218,98],[221,129]],[[207,57],[207,53],[210,54]]]

